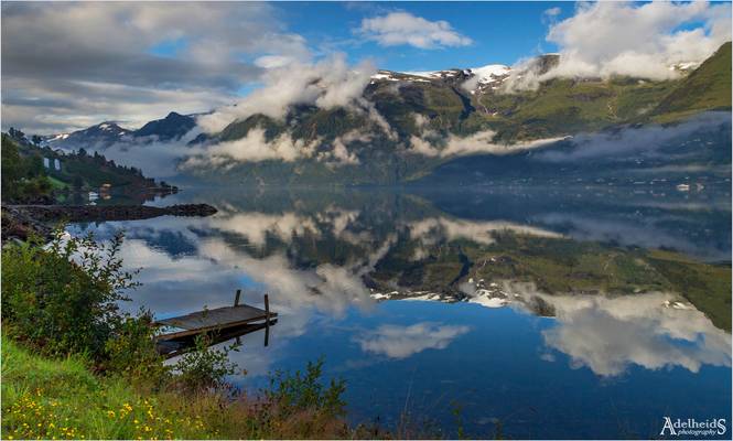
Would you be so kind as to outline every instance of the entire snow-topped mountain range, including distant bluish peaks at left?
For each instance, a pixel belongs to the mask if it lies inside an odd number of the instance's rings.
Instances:
[[[670,66],[679,75],[665,80],[554,77],[560,56],[538,56],[518,68],[378,71],[357,105],[292,105],[283,118],[254,114],[217,133],[198,133],[196,115],[171,112],[138,130],[107,121],[44,142],[105,150],[118,142],[163,141],[181,150],[183,174],[209,181],[398,183],[461,157],[567,149],[562,140],[578,133],[673,125],[731,109],[730,42],[699,65]],[[231,154],[252,144],[268,154],[251,160]],[[198,160],[187,160],[188,151]],[[209,151],[222,154],[212,161]]]

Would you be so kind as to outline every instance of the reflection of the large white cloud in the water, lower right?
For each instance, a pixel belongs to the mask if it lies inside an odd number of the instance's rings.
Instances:
[[[545,343],[570,356],[571,366],[604,377],[632,365],[647,369],[731,366],[731,335],[669,293],[625,297],[548,295],[518,290],[549,304],[558,323],[542,332]]]

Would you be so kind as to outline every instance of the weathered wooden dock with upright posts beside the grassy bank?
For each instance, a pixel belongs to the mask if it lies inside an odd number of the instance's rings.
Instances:
[[[241,290],[237,290],[234,306],[223,306],[213,310],[205,309],[153,322],[154,326],[171,326],[183,330],[159,335],[155,340],[162,342],[215,331],[220,333],[229,329],[256,324],[257,322],[262,322],[259,324],[263,327],[269,327],[273,319],[278,316],[278,313],[270,312],[268,294],[265,294],[263,310],[248,304],[239,304],[240,294]]]

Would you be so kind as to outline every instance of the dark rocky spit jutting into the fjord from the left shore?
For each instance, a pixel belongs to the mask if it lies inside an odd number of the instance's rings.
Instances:
[[[208,204],[148,205],[3,205],[2,241],[26,240],[36,235],[51,238],[61,222],[141,220],[159,216],[211,216]]]

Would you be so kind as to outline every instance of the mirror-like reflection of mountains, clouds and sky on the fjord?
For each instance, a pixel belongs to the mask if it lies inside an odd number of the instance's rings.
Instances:
[[[552,415],[542,398],[547,385],[573,388],[588,384],[589,373],[596,381],[627,378],[606,384],[605,395],[585,390],[583,399],[600,407],[608,394],[627,397],[632,384],[634,394],[648,396],[619,401],[628,409],[659,408],[664,387],[680,383],[686,397],[703,397],[710,378],[725,386],[730,377],[730,315],[726,327],[722,310],[686,295],[710,283],[711,297],[730,299],[730,263],[699,261],[730,255],[725,203],[700,212],[672,201],[671,208],[656,205],[634,217],[607,204],[519,209],[495,195],[460,193],[450,203],[440,193],[359,191],[202,190],[173,197],[184,196],[214,203],[219,213],[85,227],[101,237],[127,230],[126,265],[143,268],[130,310],[144,305],[160,319],[228,305],[237,288],[252,305],[269,293],[279,313],[270,346],[261,333],[245,334],[242,349],[231,354],[248,370],[236,379],[245,387],[326,355],[328,373],[347,378],[349,405],[363,418],[399,413],[395,390],[418,368],[430,374],[421,394],[473,400],[476,409],[494,409],[494,418],[502,404],[507,412],[533,406]],[[725,214],[727,224],[720,220]],[[722,239],[696,245],[697,260],[670,251],[702,236]],[[679,273],[700,286],[679,282]],[[655,380],[639,383],[639,369]],[[723,398],[705,400],[730,413]],[[473,421],[481,426],[487,411]]]

